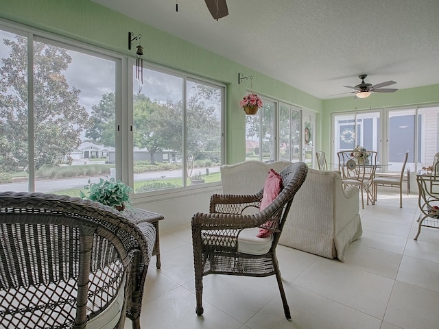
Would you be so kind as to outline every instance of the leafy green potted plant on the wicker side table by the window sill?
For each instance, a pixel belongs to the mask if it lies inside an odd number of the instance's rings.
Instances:
[[[130,206],[132,188],[115,178],[99,178],[99,182],[96,183],[88,180],[84,190],[86,193],[80,191],[80,197],[114,207],[119,211],[125,209],[125,206]]]

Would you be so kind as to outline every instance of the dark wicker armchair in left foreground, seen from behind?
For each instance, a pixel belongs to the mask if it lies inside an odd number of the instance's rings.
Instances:
[[[0,328],[140,328],[154,240],[96,202],[0,193]]]

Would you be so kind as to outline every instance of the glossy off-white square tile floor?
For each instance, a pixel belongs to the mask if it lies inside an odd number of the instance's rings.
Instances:
[[[348,247],[346,263],[278,246],[292,321],[274,276],[206,276],[204,315],[195,315],[190,219],[163,230],[162,267],[153,258],[142,328],[439,328],[439,230],[423,228],[413,240],[416,195],[405,195],[401,209],[397,195],[381,193],[360,213],[364,233]]]

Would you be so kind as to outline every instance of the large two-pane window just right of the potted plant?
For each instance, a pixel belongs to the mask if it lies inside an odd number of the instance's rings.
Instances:
[[[155,66],[134,76],[134,193],[219,182],[224,86]]]

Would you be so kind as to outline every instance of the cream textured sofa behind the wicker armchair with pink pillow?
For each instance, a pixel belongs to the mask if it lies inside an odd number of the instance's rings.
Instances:
[[[248,161],[224,165],[223,193],[258,191],[270,168],[280,171],[289,163]],[[335,171],[309,169],[296,193],[279,244],[344,262],[348,245],[361,234],[358,188],[344,190],[340,174]]]

